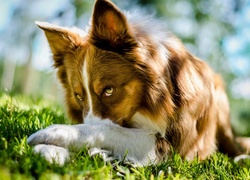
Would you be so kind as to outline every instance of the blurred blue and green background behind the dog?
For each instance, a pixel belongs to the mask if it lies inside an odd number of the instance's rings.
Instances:
[[[227,84],[232,123],[250,135],[249,0],[114,0],[121,9],[155,14]],[[58,97],[51,54],[34,22],[85,28],[92,0],[0,0],[0,91]],[[60,97],[60,95],[59,95]]]

